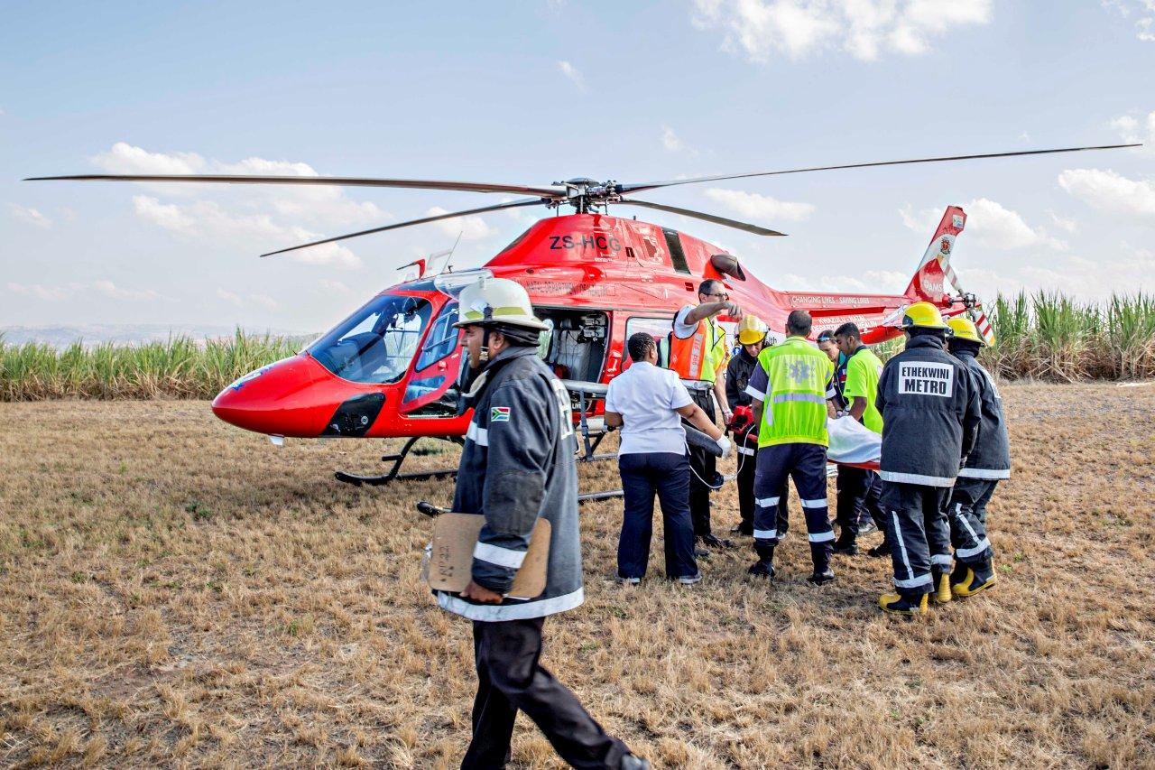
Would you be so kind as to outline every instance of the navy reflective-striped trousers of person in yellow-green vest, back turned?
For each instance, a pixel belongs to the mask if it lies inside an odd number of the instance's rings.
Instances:
[[[758,475],[754,479],[754,547],[777,546],[778,503],[785,494],[788,477],[802,498],[810,536],[810,558],[815,572],[830,565],[830,527],[826,503],[826,447],[820,444],[776,444],[758,450]]]

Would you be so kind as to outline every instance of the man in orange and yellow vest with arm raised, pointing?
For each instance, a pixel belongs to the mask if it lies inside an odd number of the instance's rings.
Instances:
[[[700,406],[711,422],[717,420],[714,401],[722,412],[723,424],[733,416],[725,398],[725,367],[729,345],[725,331],[716,317],[726,314],[736,321],[743,312],[725,291],[722,281],[708,279],[698,287],[698,305],[686,305],[673,319],[670,334],[669,368],[678,373],[690,398]],[[720,486],[715,457],[705,449],[690,447],[690,516],[694,535],[703,546],[732,548],[729,540],[710,531],[710,489]]]

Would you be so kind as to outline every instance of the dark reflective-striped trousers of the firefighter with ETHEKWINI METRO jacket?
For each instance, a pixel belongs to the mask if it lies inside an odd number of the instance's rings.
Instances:
[[[882,480],[894,585],[903,595],[917,599],[934,590],[931,567],[951,571],[951,527],[945,510],[949,496],[949,487]]]

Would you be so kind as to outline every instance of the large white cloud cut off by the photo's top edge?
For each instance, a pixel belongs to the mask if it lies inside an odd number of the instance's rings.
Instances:
[[[873,61],[917,55],[931,38],[986,24],[991,0],[695,0],[694,25],[721,30],[723,50],[763,64],[841,49]]]

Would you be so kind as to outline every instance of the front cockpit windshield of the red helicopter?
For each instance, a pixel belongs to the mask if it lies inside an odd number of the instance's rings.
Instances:
[[[420,297],[382,295],[308,347],[337,377],[387,384],[404,377],[429,324],[431,305]]]

